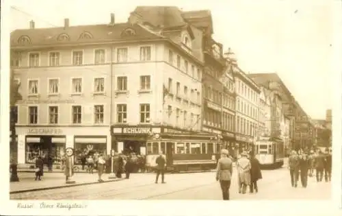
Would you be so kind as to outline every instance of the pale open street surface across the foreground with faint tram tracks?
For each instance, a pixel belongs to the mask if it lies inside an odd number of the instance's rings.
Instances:
[[[259,193],[237,193],[236,173],[231,184],[231,200],[326,200],[330,198],[330,182],[308,179],[306,189],[291,187],[289,171],[285,168],[264,170],[259,180]],[[95,177],[95,176],[94,176]],[[220,185],[215,173],[167,174],[166,184],[155,184],[153,173],[133,174],[131,179],[103,184],[49,189],[11,194],[22,200],[221,200]]]

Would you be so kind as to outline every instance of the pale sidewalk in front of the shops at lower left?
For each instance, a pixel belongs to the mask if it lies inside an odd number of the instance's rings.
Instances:
[[[29,191],[40,191],[47,189],[58,189],[62,187],[75,187],[79,185],[86,184],[102,184],[104,182],[98,182],[97,173],[75,173],[73,176],[73,180],[75,180],[75,184],[66,184],[65,176],[63,173],[44,173],[41,181],[35,181],[36,177],[34,173],[18,173],[19,182],[10,182],[10,193],[22,193]],[[103,174],[102,179],[105,182],[114,182],[118,180],[123,180],[122,178],[118,179],[108,179],[109,174]]]

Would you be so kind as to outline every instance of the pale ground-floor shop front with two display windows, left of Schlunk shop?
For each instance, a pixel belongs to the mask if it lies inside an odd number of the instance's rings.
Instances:
[[[41,156],[45,163],[60,164],[66,147],[75,149],[74,159],[77,164],[80,152],[85,149],[106,154],[110,140],[109,130],[103,127],[18,126],[16,132],[19,164],[34,164],[36,156]]]

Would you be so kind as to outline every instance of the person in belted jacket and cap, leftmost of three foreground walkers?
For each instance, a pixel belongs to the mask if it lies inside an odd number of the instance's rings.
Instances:
[[[228,157],[228,150],[221,150],[221,158],[218,159],[216,167],[216,180],[220,180],[223,200],[229,200],[229,189],[231,187],[231,176],[233,174],[233,161]]]

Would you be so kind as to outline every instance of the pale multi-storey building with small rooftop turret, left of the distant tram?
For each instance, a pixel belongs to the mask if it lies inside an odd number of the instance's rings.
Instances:
[[[259,128],[259,95],[260,88],[244,71],[235,59],[235,54],[229,50],[226,57],[233,64],[235,78],[235,138],[237,148],[252,147],[258,136]]]

